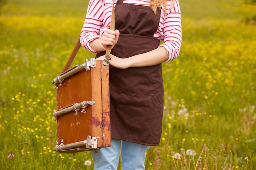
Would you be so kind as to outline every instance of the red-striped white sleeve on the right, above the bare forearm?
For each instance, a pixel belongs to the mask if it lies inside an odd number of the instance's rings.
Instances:
[[[162,26],[160,26],[161,24]],[[174,7],[171,10],[161,15],[159,27],[161,27],[164,36],[164,42],[160,46],[166,49],[168,54],[166,62],[168,62],[178,57],[182,42],[180,4],[178,0],[175,0]]]

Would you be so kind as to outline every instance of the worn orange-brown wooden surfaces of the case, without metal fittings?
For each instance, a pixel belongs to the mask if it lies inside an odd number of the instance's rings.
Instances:
[[[101,73],[102,71],[102,73]],[[102,79],[101,79],[102,78]],[[75,111],[58,116],[57,136],[61,144],[71,144],[87,139],[87,136],[97,137],[97,147],[110,146],[110,101],[108,66],[103,66],[96,60],[96,67],[89,71],[79,71],[67,77],[56,89],[57,110],[74,103],[94,101],[94,105],[85,108],[86,113]]]

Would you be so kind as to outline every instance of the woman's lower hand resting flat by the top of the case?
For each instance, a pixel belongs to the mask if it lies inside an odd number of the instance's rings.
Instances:
[[[115,68],[120,69],[126,69],[129,67],[128,58],[119,58],[115,55],[110,54],[111,60],[108,60],[110,62],[110,65]],[[105,55],[102,55],[101,57],[97,58],[96,60],[104,60],[106,59]]]

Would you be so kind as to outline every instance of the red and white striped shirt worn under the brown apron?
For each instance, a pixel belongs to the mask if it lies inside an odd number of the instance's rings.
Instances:
[[[124,3],[150,6],[147,0],[123,0]],[[115,4],[117,0],[115,0]],[[97,38],[101,38],[105,29],[110,28],[112,0],[90,0],[85,22],[81,30],[80,42],[85,49],[93,53],[90,47],[90,42]],[[164,41],[160,46],[163,46],[169,56],[168,61],[178,57],[182,41],[182,29],[180,18],[180,4],[179,0],[175,0],[174,7],[171,0],[167,0],[166,13],[161,10],[160,21],[158,29],[154,34],[154,38]],[[163,7],[162,7],[163,9]]]

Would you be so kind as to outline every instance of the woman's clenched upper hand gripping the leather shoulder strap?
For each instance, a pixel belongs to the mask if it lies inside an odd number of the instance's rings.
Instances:
[[[120,32],[119,30],[106,29],[102,34],[101,44],[106,49],[108,45],[112,46],[111,49],[117,44]]]

